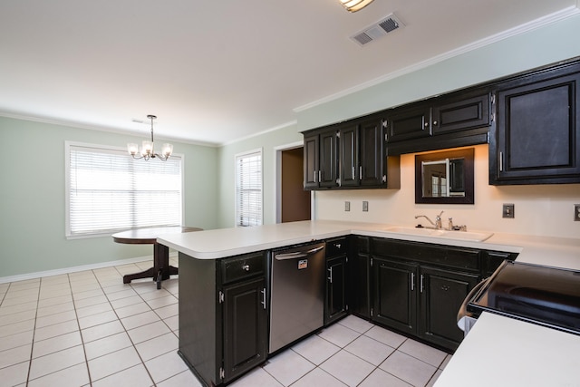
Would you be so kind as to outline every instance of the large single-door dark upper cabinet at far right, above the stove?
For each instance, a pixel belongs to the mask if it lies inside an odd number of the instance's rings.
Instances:
[[[498,84],[489,183],[580,182],[580,63]]]

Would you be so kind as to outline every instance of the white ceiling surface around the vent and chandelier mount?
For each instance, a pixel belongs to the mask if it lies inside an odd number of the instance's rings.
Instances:
[[[576,0],[5,0],[0,115],[224,144]],[[363,47],[349,36],[395,13]],[[132,120],[145,121],[146,124]]]

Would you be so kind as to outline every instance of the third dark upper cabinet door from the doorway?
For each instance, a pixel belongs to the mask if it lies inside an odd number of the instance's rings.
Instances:
[[[353,187],[359,181],[359,126],[350,124],[341,128],[340,137],[340,181],[341,187]]]

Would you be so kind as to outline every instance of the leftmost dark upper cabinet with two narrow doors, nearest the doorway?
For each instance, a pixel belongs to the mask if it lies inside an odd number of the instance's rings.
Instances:
[[[337,139],[335,129],[304,134],[304,189],[338,185]]]

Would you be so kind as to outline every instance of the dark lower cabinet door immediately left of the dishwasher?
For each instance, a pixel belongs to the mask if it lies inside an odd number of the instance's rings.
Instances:
[[[266,280],[260,277],[227,285],[223,292],[224,382],[227,382],[266,360]]]

